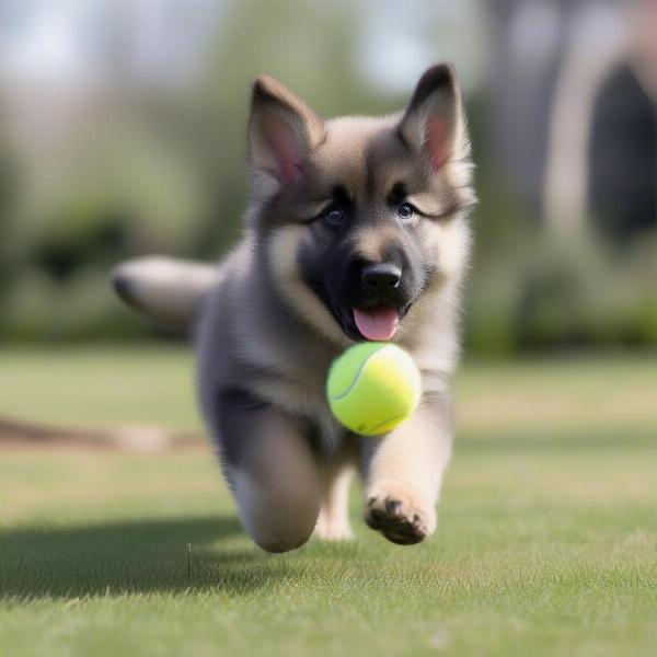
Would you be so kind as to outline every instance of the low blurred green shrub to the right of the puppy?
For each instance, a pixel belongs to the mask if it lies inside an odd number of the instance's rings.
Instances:
[[[656,241],[619,257],[590,237],[527,234],[472,273],[471,350],[657,344],[656,254]]]

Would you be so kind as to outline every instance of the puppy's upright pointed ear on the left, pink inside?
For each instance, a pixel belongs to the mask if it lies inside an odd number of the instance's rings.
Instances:
[[[255,173],[270,175],[279,185],[293,183],[324,135],[323,122],[289,89],[269,76],[255,79],[249,122]]]

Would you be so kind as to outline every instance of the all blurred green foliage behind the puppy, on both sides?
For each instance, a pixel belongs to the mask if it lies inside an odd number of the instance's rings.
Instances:
[[[145,253],[214,260],[239,238],[255,74],[281,78],[326,116],[406,101],[367,88],[354,70],[358,15],[346,3],[230,3],[200,79],[175,93],[117,85],[30,191],[19,192],[0,134],[0,336],[168,335],[122,306],[108,272]],[[548,235],[531,219],[535,209],[504,196],[512,181],[495,178],[485,96],[469,104],[481,206],[468,350],[657,344],[657,244],[621,256],[590,237]]]

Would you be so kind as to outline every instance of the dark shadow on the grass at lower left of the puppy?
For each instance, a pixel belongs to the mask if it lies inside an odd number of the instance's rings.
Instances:
[[[241,595],[290,569],[255,546],[214,545],[241,533],[231,517],[9,529],[0,532],[0,600],[188,588]],[[187,543],[193,546],[189,568]]]

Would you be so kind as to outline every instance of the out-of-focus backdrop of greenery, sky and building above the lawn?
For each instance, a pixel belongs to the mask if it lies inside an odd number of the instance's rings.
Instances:
[[[481,197],[468,353],[654,345],[656,34],[654,0],[0,0],[0,337],[168,335],[108,270],[238,240],[258,72],[377,114],[451,60]]]

